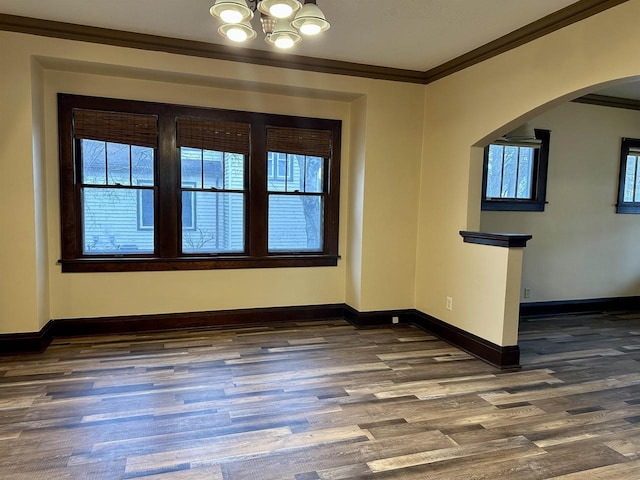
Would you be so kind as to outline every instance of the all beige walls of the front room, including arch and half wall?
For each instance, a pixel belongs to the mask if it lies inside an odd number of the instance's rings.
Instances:
[[[522,251],[464,244],[458,233],[480,227],[478,146],[596,86],[640,76],[637,18],[640,0],[631,0],[426,87],[0,32],[0,121],[9,132],[0,220],[12,225],[0,236],[0,332],[34,331],[46,317],[348,301],[361,311],[416,307],[512,345]],[[343,119],[339,267],[62,275],[60,90]],[[46,167],[46,256],[34,160]]]

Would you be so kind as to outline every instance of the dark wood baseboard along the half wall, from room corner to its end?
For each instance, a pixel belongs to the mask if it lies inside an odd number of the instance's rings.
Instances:
[[[500,369],[520,368],[520,347],[518,345],[501,347],[418,310],[401,316],[400,322],[416,325],[494,367]]]

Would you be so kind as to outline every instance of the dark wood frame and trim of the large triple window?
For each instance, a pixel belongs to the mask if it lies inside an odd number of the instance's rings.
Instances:
[[[86,255],[83,253],[79,163],[74,138],[74,109],[154,115],[158,121],[155,182],[155,253],[151,255]],[[238,122],[250,126],[250,155],[245,166],[245,251],[238,254],[181,253],[180,163],[176,143],[177,118]],[[340,192],[340,120],[293,117],[219,110],[122,99],[58,94],[61,200],[61,259],[63,272],[113,272],[158,270],[205,270],[335,266],[338,262],[338,216]],[[319,252],[270,253],[267,245],[268,127],[325,132],[330,138],[330,158],[325,159],[326,182],[323,207],[322,250]],[[173,192],[173,193],[172,193]]]

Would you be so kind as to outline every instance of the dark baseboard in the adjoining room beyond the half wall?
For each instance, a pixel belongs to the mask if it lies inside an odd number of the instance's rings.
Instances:
[[[615,310],[640,310],[640,297],[589,298],[520,304],[520,316],[522,317]]]

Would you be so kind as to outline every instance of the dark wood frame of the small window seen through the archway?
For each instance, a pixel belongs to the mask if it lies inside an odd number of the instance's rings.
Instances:
[[[531,199],[487,198],[487,175],[489,165],[489,146],[484,149],[482,166],[482,210],[544,212],[547,204],[547,172],[549,167],[549,130],[535,129],[536,138],[542,142],[534,153],[533,195]]]

